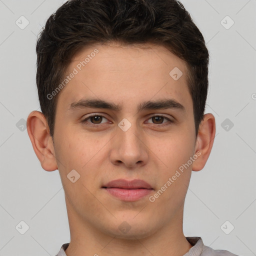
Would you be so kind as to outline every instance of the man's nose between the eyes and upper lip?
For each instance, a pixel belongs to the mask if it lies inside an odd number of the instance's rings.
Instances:
[[[113,137],[110,161],[114,165],[125,165],[128,168],[142,166],[148,161],[149,148],[146,146],[146,137],[142,129],[135,123],[125,130],[117,127]]]

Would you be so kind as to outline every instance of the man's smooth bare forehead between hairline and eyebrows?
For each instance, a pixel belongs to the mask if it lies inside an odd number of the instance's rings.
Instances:
[[[85,47],[69,63],[66,75],[71,73],[75,75],[59,95],[65,108],[86,97],[127,105],[163,96],[192,102],[185,61],[160,45],[112,43]]]

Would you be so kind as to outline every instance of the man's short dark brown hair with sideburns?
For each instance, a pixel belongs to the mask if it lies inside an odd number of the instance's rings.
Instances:
[[[59,93],[48,99],[84,46],[118,41],[163,45],[188,66],[195,135],[203,119],[209,54],[204,38],[178,0],[69,0],[47,19],[36,43],[36,85],[41,111],[53,136]]]

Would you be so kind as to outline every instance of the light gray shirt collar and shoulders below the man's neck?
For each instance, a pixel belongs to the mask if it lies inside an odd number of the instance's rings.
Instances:
[[[184,256],[237,256],[228,250],[214,250],[204,245],[201,237],[193,236],[186,237],[186,239],[191,245],[193,245],[193,247],[191,247]],[[64,243],[56,256],[66,256],[65,249],[68,245],[69,243]]]

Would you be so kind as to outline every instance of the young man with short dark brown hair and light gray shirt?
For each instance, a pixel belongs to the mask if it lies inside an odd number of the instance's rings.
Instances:
[[[208,51],[176,0],[71,0],[36,45],[41,111],[27,131],[59,170],[70,243],[57,256],[234,255],[182,230],[191,171],[205,165]]]

